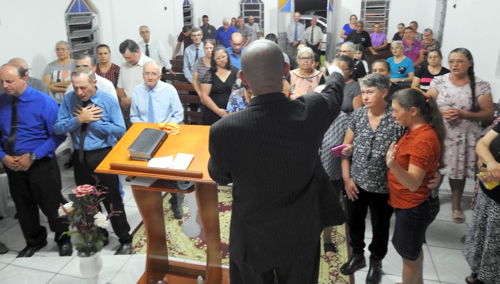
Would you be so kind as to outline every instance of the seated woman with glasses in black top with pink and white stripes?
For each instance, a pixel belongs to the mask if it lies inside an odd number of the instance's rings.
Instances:
[[[430,81],[434,77],[448,74],[449,70],[441,66],[442,55],[438,49],[432,49],[428,52],[426,67],[418,69],[413,77],[413,82],[411,82],[411,88],[420,91],[420,93],[425,94],[429,89]]]

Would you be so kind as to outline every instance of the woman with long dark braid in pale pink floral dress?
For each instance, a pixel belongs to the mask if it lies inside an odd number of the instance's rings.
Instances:
[[[465,178],[474,178],[480,122],[493,118],[494,105],[489,83],[474,76],[474,62],[467,49],[452,50],[448,66],[450,73],[434,77],[427,95],[436,100],[446,127],[445,167],[440,172],[449,178],[452,220],[463,223],[460,200]]]

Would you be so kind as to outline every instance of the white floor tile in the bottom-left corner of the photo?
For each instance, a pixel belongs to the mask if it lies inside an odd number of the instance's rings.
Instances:
[[[2,283],[31,284],[46,283],[55,273],[29,269],[15,265],[7,265],[0,270],[0,279]]]

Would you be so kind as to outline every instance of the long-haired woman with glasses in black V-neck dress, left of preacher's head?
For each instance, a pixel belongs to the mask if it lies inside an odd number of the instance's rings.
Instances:
[[[225,47],[217,45],[212,50],[210,69],[201,80],[201,103],[203,125],[212,125],[227,115],[225,109],[231,94],[231,87],[236,82],[238,69],[231,65]]]

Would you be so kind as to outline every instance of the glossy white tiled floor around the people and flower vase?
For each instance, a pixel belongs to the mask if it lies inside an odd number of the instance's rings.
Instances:
[[[62,192],[67,194],[74,188],[72,169],[64,170],[62,164],[67,155],[59,158],[62,177]],[[447,179],[445,179],[447,181]],[[125,212],[131,228],[135,228],[141,221],[135,200],[132,196],[129,183],[123,181],[125,191]],[[473,190],[473,181],[467,180],[463,196],[462,209],[466,216],[465,223],[456,224],[451,221],[451,196],[449,184],[443,182],[440,190],[441,207],[436,220],[427,230],[427,244],[423,246],[424,283],[463,283],[470,269],[465,261],[461,248],[460,238],[466,234],[468,222],[472,219],[472,212],[468,209]],[[50,241],[53,233],[49,233],[49,243],[35,253],[31,258],[15,258],[25,243],[19,224],[12,218],[15,212],[14,205],[8,202],[7,216],[0,221],[0,241],[9,247],[6,254],[0,254],[0,283],[84,283],[78,270],[78,258],[73,252],[71,257],[58,257],[57,245]],[[40,218],[48,227],[46,218],[40,213]],[[369,218],[366,220],[365,242],[369,243],[372,237]],[[392,237],[394,216],[391,219],[390,236]],[[109,230],[110,228],[108,228]],[[112,230],[112,229],[111,229]],[[110,231],[110,243],[101,252],[103,268],[99,273],[98,283],[135,283],[144,271],[145,255],[113,255],[119,246],[118,238]],[[366,252],[366,257],[369,253]],[[401,257],[389,242],[387,256],[383,260],[384,275],[382,284],[401,281]],[[364,283],[367,267],[354,273],[356,283]]]

